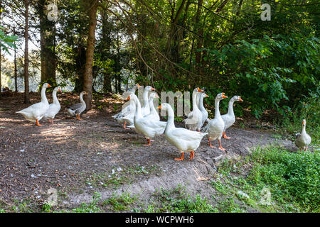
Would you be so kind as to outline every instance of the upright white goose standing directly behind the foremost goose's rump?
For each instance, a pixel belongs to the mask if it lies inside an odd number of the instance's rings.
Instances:
[[[202,123],[202,113],[197,105],[197,96],[199,92],[203,90],[198,87],[193,90],[192,93],[192,111],[188,114],[188,117],[183,120],[185,127],[191,131],[199,131]]]

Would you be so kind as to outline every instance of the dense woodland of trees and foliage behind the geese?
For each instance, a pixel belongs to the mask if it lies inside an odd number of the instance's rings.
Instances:
[[[262,20],[265,3],[270,21]],[[48,9],[50,4],[58,10]],[[40,57],[31,64],[38,65],[41,82],[64,86],[68,80],[75,92],[90,94],[122,93],[132,80],[159,91],[201,86],[210,106],[218,92],[239,94],[257,118],[267,109],[286,115],[308,100],[319,101],[319,1],[29,0],[29,5],[28,32]],[[23,40],[25,4],[3,1],[1,12],[6,50],[14,48],[14,31]]]

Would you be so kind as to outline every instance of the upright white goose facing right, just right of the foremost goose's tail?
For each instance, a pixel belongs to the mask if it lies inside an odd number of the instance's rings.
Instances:
[[[220,115],[220,110],[219,110],[219,102],[222,99],[228,98],[225,96],[224,93],[217,94],[215,96],[215,118],[213,118],[209,123],[206,125],[204,128],[204,132],[207,132],[209,135],[209,145],[211,148],[215,148],[213,145],[211,145],[211,140],[216,140],[218,139],[219,141],[219,149],[220,150],[225,150],[221,146],[221,137],[223,135],[223,129],[225,128],[225,123],[223,122],[223,118]]]

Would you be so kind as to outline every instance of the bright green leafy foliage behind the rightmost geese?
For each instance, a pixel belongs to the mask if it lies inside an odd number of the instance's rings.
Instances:
[[[217,72],[228,72],[228,77],[217,79],[225,91],[209,88],[215,91],[211,102],[218,92],[239,94],[257,118],[266,109],[286,116],[302,96],[319,89],[319,39],[313,35],[264,35],[206,52]]]

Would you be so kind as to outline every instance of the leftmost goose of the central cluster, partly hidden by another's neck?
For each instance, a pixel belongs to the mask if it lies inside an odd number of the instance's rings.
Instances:
[[[127,92],[124,92],[124,95],[122,95],[122,98],[125,96],[124,99],[127,99],[127,96],[131,93],[135,94],[136,90],[141,87],[139,84],[134,84],[132,89],[130,89]],[[129,129],[126,127],[126,123],[129,123],[129,125],[133,124],[133,118],[134,118],[134,112],[136,111],[136,105],[134,104],[134,101],[129,101],[129,103],[124,104],[122,111],[120,111],[118,114],[114,114],[112,116],[114,119],[116,119],[119,123],[123,123],[124,129]],[[132,119],[132,121],[126,121],[124,117]]]

